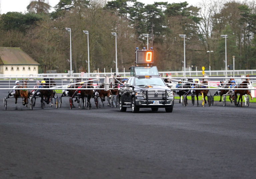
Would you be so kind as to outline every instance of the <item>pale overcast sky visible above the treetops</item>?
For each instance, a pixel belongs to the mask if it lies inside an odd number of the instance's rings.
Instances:
[[[31,0],[0,0],[0,13],[5,14],[7,12],[26,12],[27,6],[29,5],[29,2]],[[56,4],[58,4],[59,0],[46,0],[45,2],[49,2],[50,6],[54,7]],[[144,4],[153,4],[154,2],[166,2],[169,3],[179,3],[187,1],[189,5],[197,5],[200,0],[137,0],[139,2],[142,2]],[[54,9],[52,9],[53,11]]]

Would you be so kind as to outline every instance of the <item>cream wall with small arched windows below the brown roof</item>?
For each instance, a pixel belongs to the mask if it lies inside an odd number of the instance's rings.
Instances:
[[[37,75],[38,65],[1,65],[0,74],[3,75]]]

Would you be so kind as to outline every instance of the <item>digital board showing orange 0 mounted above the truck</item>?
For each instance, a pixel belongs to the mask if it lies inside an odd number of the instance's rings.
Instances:
[[[154,51],[153,50],[137,50],[136,51],[136,63],[154,63]]]

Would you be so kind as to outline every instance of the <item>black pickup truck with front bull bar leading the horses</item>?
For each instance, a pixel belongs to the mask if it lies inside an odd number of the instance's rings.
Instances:
[[[140,108],[151,108],[152,111],[165,108],[166,112],[172,112],[174,105],[173,91],[158,74],[129,77],[124,87],[119,88],[118,99],[122,112],[127,107],[132,107],[134,113]]]

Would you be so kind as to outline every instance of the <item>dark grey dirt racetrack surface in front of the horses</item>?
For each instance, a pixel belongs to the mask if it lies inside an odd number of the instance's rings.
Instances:
[[[0,99],[6,94],[0,91]],[[133,114],[94,104],[70,110],[68,98],[58,109],[38,102],[30,110],[8,99],[7,111],[0,108],[0,179],[256,176],[255,104],[203,108],[175,101],[172,113]]]

